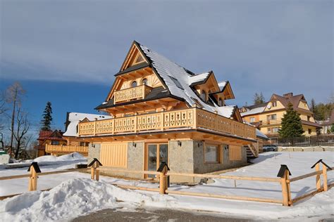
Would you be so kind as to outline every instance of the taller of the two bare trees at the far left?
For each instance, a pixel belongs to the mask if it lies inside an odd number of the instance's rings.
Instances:
[[[9,86],[6,90],[6,103],[13,104],[12,105],[12,112],[11,112],[11,150],[9,155],[12,155],[13,150],[13,138],[14,138],[14,124],[16,122],[16,107],[20,107],[21,105],[21,98],[25,94],[25,90],[22,88],[21,84],[16,81],[13,85]]]

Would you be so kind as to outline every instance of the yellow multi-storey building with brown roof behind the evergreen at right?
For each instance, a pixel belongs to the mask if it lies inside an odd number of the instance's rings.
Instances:
[[[309,110],[307,100],[302,94],[297,96],[293,96],[292,93],[286,93],[283,96],[273,94],[268,102],[242,107],[240,112],[242,119],[256,126],[266,136],[278,138],[278,129],[281,127],[288,103],[292,103],[294,110],[299,113],[304,135],[316,135],[321,126],[314,121],[314,114]]]

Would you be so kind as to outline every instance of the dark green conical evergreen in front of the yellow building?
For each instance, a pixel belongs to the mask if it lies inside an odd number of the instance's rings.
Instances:
[[[304,133],[302,126],[302,119],[299,117],[299,113],[293,110],[292,103],[287,104],[287,110],[282,118],[282,128],[278,130],[280,138],[288,138],[293,144],[293,138],[302,136]]]

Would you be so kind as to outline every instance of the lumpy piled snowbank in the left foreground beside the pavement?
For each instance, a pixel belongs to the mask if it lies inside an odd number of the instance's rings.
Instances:
[[[99,209],[120,207],[123,202],[135,209],[163,207],[174,199],[156,193],[124,190],[88,178],[75,178],[49,191],[26,192],[0,202],[0,218],[4,221],[63,221]]]

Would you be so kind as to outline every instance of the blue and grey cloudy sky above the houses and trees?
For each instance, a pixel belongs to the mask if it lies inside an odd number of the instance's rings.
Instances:
[[[255,92],[333,93],[333,1],[0,1],[0,89],[21,81],[37,123],[94,112],[133,40],[192,72]]]

